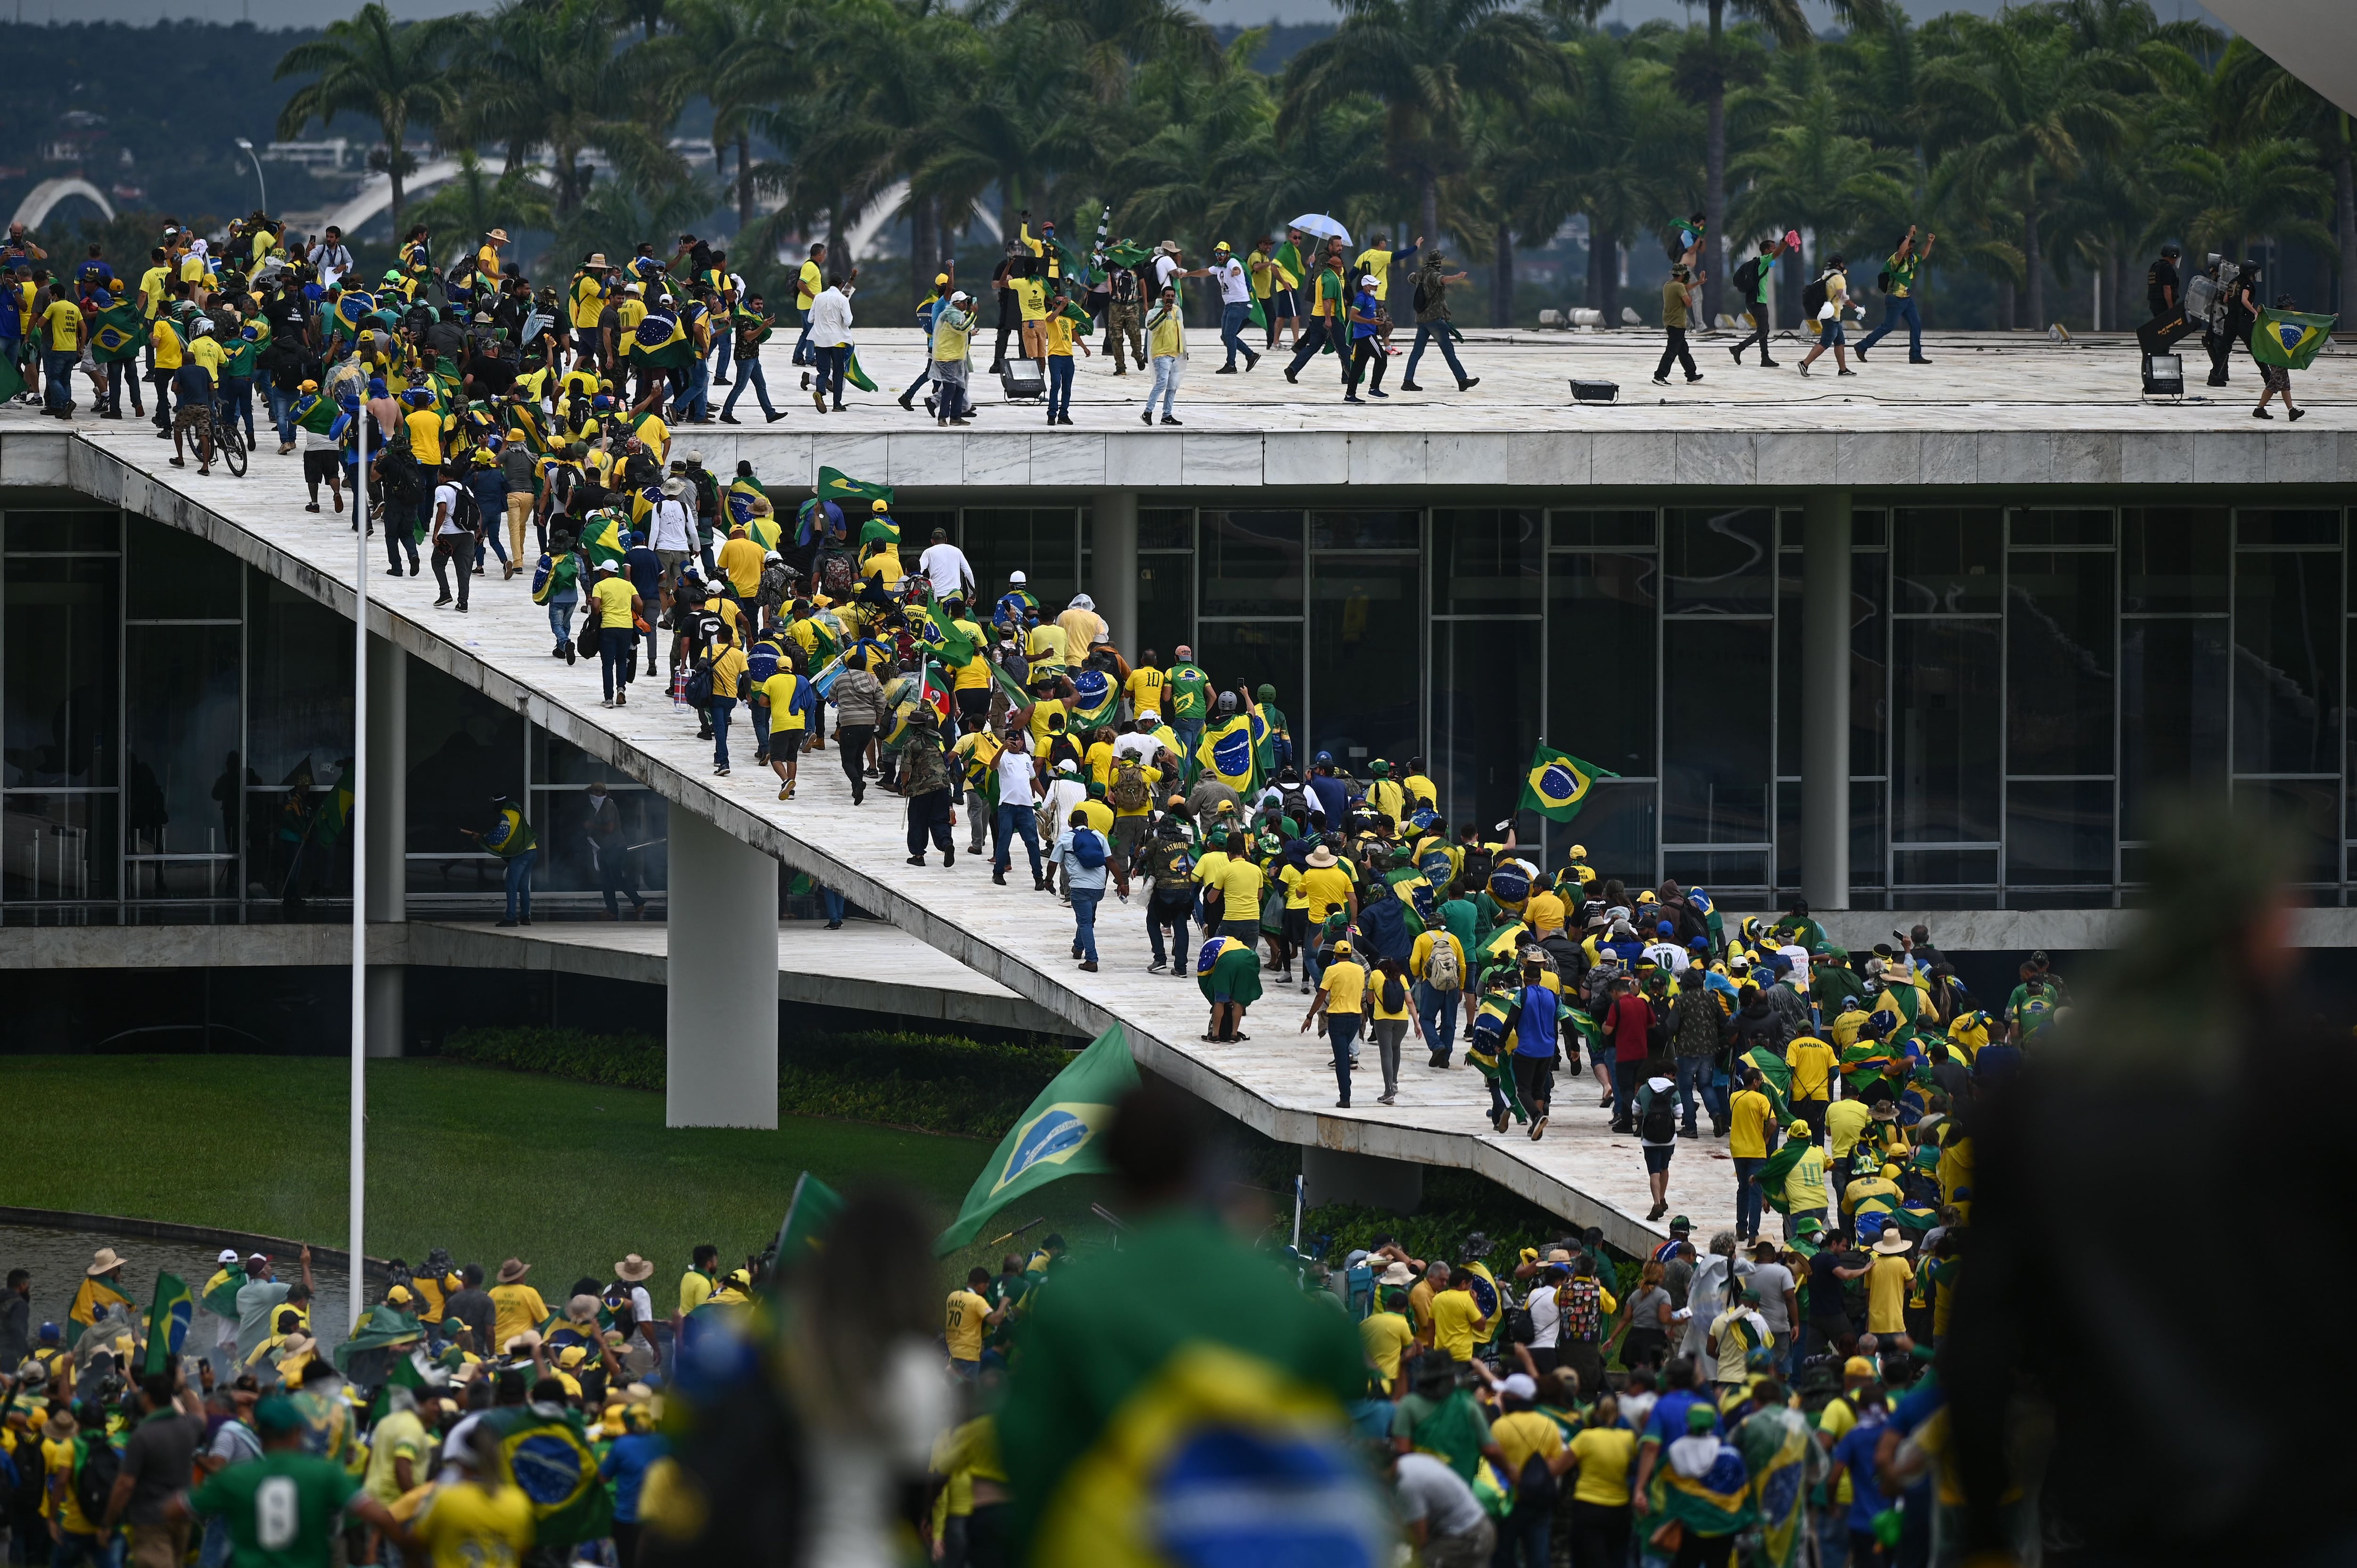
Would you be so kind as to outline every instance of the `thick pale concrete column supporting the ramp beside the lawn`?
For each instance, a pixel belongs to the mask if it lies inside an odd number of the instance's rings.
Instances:
[[[778,1125],[778,863],[693,811],[669,816],[662,1118]]]

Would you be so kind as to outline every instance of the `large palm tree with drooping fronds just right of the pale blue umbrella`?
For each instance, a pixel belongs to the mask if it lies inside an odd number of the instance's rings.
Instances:
[[[1475,99],[1520,104],[1560,80],[1546,28],[1508,0],[1336,0],[1341,26],[1285,66],[1277,139],[1353,94],[1384,104],[1384,151],[1417,191],[1426,236],[1440,233],[1440,182],[1464,172]]]

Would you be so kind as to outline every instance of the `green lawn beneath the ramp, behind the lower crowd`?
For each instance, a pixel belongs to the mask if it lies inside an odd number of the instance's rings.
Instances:
[[[316,1056],[5,1056],[12,1200],[339,1247],[346,1078],[349,1063]],[[610,1278],[625,1252],[653,1259],[658,1285],[695,1243],[759,1252],[801,1170],[839,1188],[893,1181],[948,1224],[990,1155],[978,1139],[813,1118],[667,1129],[660,1094],[434,1059],[370,1063],[368,1103],[368,1252],[417,1261],[443,1245],[488,1269],[521,1257],[544,1292]],[[1091,1179],[1047,1188],[945,1273],[995,1266],[988,1238],[1035,1214],[1049,1224],[1025,1243],[1094,1238],[1096,1195]]]

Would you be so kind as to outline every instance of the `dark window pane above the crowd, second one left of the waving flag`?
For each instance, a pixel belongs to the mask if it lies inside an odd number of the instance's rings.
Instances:
[[[1313,752],[1388,757],[1421,752],[1424,615],[1414,554],[1322,554],[1313,566]],[[1285,691],[1285,684],[1277,684]],[[1282,707],[1282,696],[1277,700]]]

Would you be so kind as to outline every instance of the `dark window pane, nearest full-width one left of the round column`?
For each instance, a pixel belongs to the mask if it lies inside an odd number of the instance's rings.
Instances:
[[[1728,670],[1761,670],[1770,655],[1761,620],[1681,620],[1662,655],[1662,839],[1669,844],[1768,842],[1768,703],[1728,700]]]

